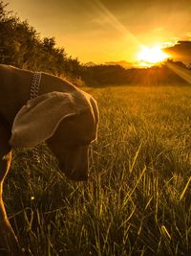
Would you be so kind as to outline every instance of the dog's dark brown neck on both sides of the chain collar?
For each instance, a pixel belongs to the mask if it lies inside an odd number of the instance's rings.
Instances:
[[[32,72],[0,64],[0,115],[10,124],[19,109],[31,99]],[[42,73],[38,95],[51,91],[74,91],[74,85]]]

